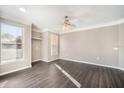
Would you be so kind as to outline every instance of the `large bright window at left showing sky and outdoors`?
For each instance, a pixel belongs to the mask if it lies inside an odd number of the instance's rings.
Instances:
[[[6,23],[0,24],[1,64],[23,59],[23,28]]]

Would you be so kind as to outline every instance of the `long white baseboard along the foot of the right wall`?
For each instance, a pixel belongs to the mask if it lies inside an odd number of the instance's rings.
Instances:
[[[123,71],[124,71],[124,68],[120,68],[120,67],[117,67],[117,66],[110,66],[110,65],[104,65],[104,64],[97,64],[97,63],[93,63],[93,62],[86,62],[86,61],[80,61],[80,60],[73,60],[73,59],[68,59],[68,58],[60,58],[60,59],[62,59],[62,60],[68,60],[68,61],[73,61],[73,62],[79,62],[79,63],[90,64],[90,65],[96,65],[96,66],[114,68],[114,69],[119,69],[119,70],[123,70]]]

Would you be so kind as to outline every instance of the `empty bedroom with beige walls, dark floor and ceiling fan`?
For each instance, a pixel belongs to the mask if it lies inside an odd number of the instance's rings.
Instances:
[[[0,88],[124,88],[124,5],[0,5]]]

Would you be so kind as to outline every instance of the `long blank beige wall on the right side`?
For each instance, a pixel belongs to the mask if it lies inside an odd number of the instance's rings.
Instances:
[[[114,25],[62,34],[60,36],[60,58],[115,67],[119,66],[120,59],[121,65],[124,65],[123,48],[113,49],[119,47],[119,42],[121,44],[124,42],[123,33],[124,25]]]

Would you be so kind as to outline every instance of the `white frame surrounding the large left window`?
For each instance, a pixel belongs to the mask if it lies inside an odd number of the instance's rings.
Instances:
[[[17,22],[11,21],[11,20],[0,18],[0,36],[1,36],[1,24],[2,23],[22,28],[22,32],[21,32],[22,33],[22,37],[21,37],[22,38],[22,43],[21,43],[22,44],[22,58],[16,59],[16,61],[7,60],[7,61],[5,61],[5,63],[2,63],[2,60],[1,60],[2,42],[1,42],[1,37],[0,37],[0,65],[10,64],[10,63],[18,63],[20,61],[24,61],[25,60],[25,34],[24,34],[25,26],[21,23],[17,23]]]

